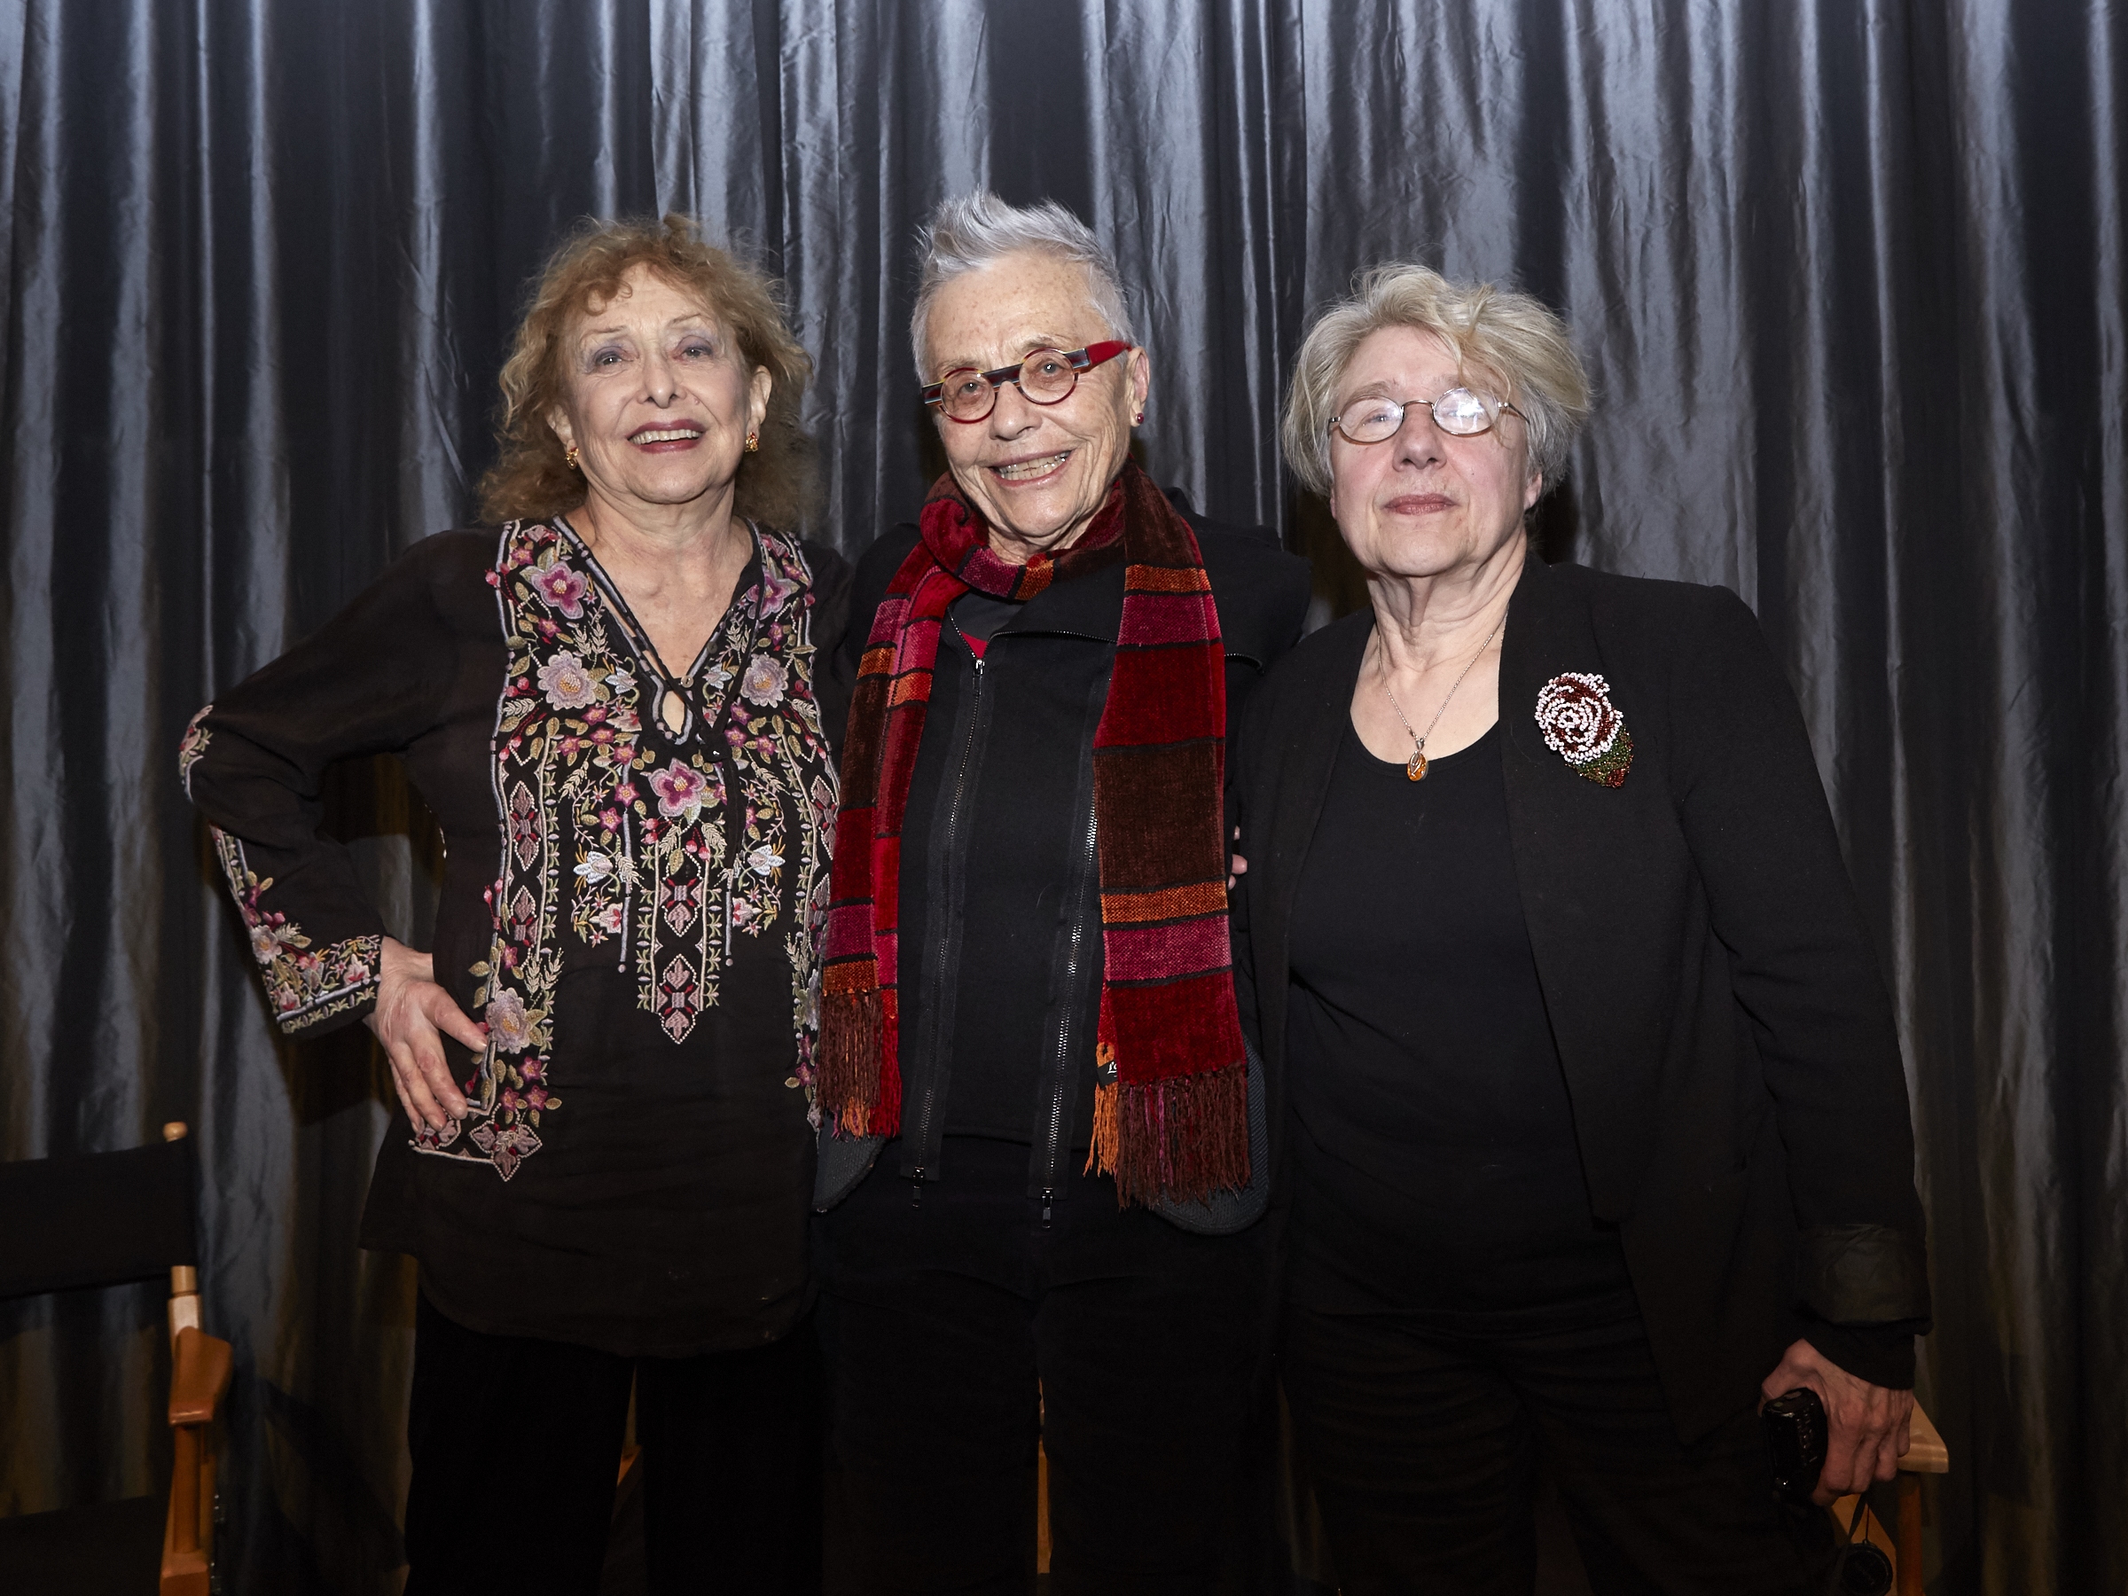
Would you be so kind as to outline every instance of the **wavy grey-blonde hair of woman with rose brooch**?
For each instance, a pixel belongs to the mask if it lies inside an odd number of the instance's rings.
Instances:
[[[1285,458],[1309,487],[1330,492],[1330,421],[1336,385],[1360,345],[1383,328],[1430,332],[1470,381],[1483,372],[1507,392],[1530,432],[1530,470],[1545,492],[1566,470],[1566,451],[1590,415],[1590,379],[1573,334],[1549,304],[1492,283],[1451,283],[1430,266],[1387,262],[1353,279],[1351,298],[1324,311],[1294,358],[1285,400]]]

